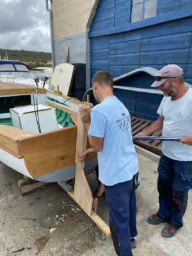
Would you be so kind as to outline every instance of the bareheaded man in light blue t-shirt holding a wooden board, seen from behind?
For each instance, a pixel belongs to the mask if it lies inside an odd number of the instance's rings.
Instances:
[[[113,94],[113,79],[108,72],[97,72],[92,87],[99,104],[91,116],[82,105],[81,119],[93,151],[98,152],[99,180],[104,184],[115,252],[132,256],[131,241],[137,235],[134,177],[138,159],[132,143],[131,116]]]

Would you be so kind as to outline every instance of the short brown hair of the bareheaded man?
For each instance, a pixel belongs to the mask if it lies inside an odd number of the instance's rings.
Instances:
[[[113,78],[109,74],[109,72],[106,71],[99,71],[97,72],[92,79],[92,83],[98,83],[100,86],[110,86],[113,88]]]

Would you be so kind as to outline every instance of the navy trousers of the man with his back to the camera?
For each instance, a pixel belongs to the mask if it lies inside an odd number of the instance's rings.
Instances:
[[[138,234],[134,177],[126,182],[104,187],[115,252],[118,256],[132,256],[130,237],[135,237]]]

